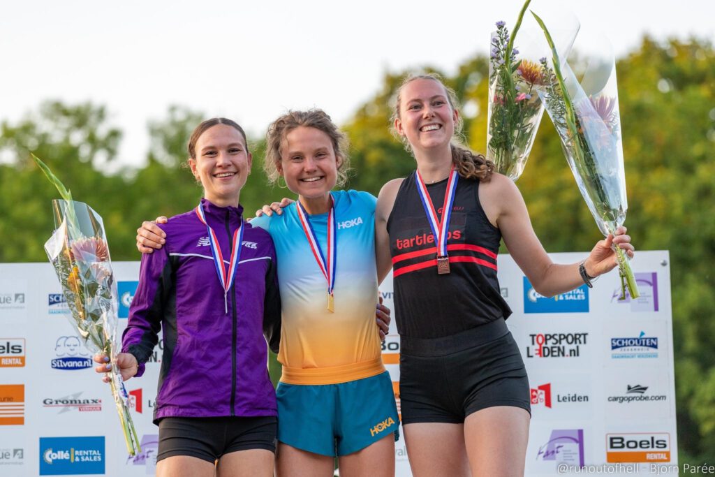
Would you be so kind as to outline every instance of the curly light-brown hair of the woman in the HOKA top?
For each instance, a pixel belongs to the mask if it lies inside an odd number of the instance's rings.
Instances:
[[[312,127],[325,132],[332,142],[332,150],[335,152],[335,159],[340,158],[337,166],[337,186],[345,184],[347,172],[350,172],[350,157],[347,155],[349,143],[345,133],[337,128],[330,116],[322,109],[309,109],[307,111],[289,111],[276,119],[268,127],[266,132],[266,155],[263,161],[263,170],[268,180],[274,184],[280,174],[277,164],[280,163],[280,144],[286,135],[297,127]]]

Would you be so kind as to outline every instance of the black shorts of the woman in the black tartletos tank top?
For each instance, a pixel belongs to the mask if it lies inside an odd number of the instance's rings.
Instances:
[[[526,368],[503,319],[445,338],[403,337],[401,347],[403,424],[463,423],[497,405],[531,414]]]

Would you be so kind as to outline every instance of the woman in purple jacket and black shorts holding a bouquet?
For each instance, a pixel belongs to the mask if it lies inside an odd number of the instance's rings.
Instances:
[[[117,365],[125,380],[144,363],[163,328],[154,423],[157,476],[271,476],[276,401],[267,347],[280,340],[275,250],[242,217],[251,169],[243,129],[202,122],[189,140],[189,167],[204,197],[169,219],[165,246],[142,255]],[[97,372],[111,369],[98,356]]]

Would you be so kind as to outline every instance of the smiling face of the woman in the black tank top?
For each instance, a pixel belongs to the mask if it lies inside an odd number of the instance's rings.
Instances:
[[[458,113],[450,106],[445,88],[434,79],[415,79],[400,90],[395,129],[413,150],[450,144]]]

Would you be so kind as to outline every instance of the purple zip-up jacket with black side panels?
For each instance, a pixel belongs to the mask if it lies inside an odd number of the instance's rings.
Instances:
[[[201,200],[225,268],[242,207]],[[246,222],[240,262],[227,294],[217,275],[206,226],[195,210],[159,227],[166,245],[142,255],[139,286],[122,335],[122,352],[139,362],[137,377],[163,328],[154,423],[165,417],[276,415],[267,369],[267,343],[280,340],[275,249],[268,232]]]

